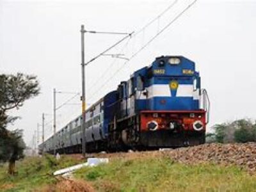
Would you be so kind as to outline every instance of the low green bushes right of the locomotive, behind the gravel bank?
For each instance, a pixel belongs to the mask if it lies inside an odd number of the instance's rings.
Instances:
[[[218,143],[246,143],[256,141],[256,123],[250,119],[240,119],[234,122],[216,124],[213,126],[213,129],[214,133],[207,134],[207,137],[214,138],[214,141]]]

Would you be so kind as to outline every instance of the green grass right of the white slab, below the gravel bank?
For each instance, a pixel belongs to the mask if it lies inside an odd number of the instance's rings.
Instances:
[[[185,165],[167,158],[116,160],[76,177],[98,191],[256,191],[256,177],[235,166]]]

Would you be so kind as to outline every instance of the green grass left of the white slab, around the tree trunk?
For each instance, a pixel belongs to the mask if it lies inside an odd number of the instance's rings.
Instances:
[[[0,167],[0,191],[35,191],[36,188],[56,183],[52,175],[54,171],[77,163],[80,162],[67,156],[61,156],[59,161],[50,155],[26,157],[17,162],[17,174],[13,176],[6,173],[7,164],[4,164]]]

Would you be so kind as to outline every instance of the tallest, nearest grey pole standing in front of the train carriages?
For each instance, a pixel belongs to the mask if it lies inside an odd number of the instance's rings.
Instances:
[[[82,152],[86,154],[86,138],[85,138],[85,64],[84,64],[84,25],[81,26],[81,69],[82,69]]]

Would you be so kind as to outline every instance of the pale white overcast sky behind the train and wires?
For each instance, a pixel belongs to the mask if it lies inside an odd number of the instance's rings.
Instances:
[[[53,88],[63,92],[56,94],[57,106],[74,97],[58,109],[57,130],[81,113],[76,94],[81,92],[81,24],[87,30],[136,34],[108,52],[132,57],[129,62],[101,56],[86,66],[87,106],[114,90],[134,70],[150,65],[157,56],[182,55],[195,61],[202,87],[209,94],[208,130],[214,124],[239,118],[256,119],[256,1],[198,0],[172,22],[192,2],[0,0],[0,72],[34,74],[41,87],[38,97],[26,101],[19,111],[10,111],[10,115],[21,118],[9,129],[24,129],[24,140],[29,145],[45,113],[45,137],[49,137]],[[170,10],[143,29],[171,4]],[[86,33],[85,60],[121,38],[124,35]]]

